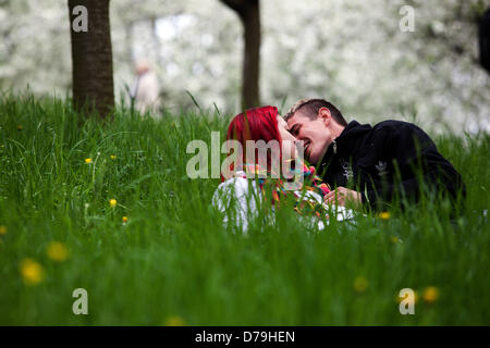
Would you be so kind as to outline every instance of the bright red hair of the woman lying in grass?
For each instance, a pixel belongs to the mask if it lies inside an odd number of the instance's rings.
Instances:
[[[238,140],[243,147],[243,161],[246,161],[247,140],[277,140],[281,149],[281,135],[278,128],[278,108],[262,107],[254,108],[238,113],[230,123],[226,133],[226,140]],[[270,169],[270,154],[267,156],[267,165]],[[258,156],[255,156],[257,164]],[[231,169],[233,170],[233,169]]]

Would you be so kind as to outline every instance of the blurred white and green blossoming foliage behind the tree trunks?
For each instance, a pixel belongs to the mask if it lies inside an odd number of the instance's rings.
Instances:
[[[399,28],[415,9],[415,32]],[[260,98],[322,97],[347,120],[416,121],[455,133],[490,129],[490,76],[478,64],[477,21],[489,0],[262,0]],[[65,0],[0,0],[0,89],[71,92]],[[162,105],[240,111],[242,25],[218,0],[112,0],[117,100],[138,59],[152,63]],[[416,120],[414,116],[416,115]]]

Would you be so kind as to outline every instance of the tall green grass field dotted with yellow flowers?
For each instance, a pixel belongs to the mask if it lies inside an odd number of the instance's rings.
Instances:
[[[78,127],[61,101],[1,99],[0,324],[490,324],[489,135],[433,137],[468,189],[452,222],[426,204],[318,232],[280,209],[244,237],[210,204],[220,181],[185,171],[187,142],[228,121],[119,110]]]

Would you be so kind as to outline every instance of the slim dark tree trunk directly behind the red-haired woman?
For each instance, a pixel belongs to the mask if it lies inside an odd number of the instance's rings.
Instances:
[[[259,0],[222,0],[234,10],[244,28],[242,107],[258,107],[260,71],[260,3]]]

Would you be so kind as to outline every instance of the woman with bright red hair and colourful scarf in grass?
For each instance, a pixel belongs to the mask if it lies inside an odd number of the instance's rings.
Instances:
[[[289,133],[278,108],[255,108],[237,114],[228,127],[226,140],[229,159],[233,161],[222,172],[222,183],[212,200],[221,212],[233,211],[232,219],[244,232],[257,215],[257,207],[269,200],[269,194],[272,209],[282,199],[294,197],[296,212],[309,211],[311,216],[323,214],[328,219],[323,196],[330,187],[315,175],[314,166],[303,162],[302,144]],[[338,220],[352,216],[351,210],[336,207]],[[226,215],[224,222],[229,220]],[[324,227],[321,220],[317,223]]]

